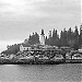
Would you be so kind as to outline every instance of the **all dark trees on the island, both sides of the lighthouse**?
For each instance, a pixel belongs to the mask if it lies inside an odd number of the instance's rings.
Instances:
[[[80,32],[80,33],[79,33]],[[31,44],[31,45],[36,45],[39,44],[39,35],[38,33],[33,33],[32,35],[28,36],[28,39],[24,40],[24,44]],[[80,26],[80,31],[78,30],[78,26],[74,27],[74,31],[70,27],[69,30],[63,28],[60,32],[60,36],[58,34],[57,30],[51,31],[51,35],[45,37],[45,43],[46,45],[50,46],[68,46],[73,49],[79,49],[82,46],[82,25]],[[23,43],[22,43],[23,44]],[[16,54],[20,50],[20,45],[21,44],[14,44],[10,46],[7,50],[2,51],[2,54]]]

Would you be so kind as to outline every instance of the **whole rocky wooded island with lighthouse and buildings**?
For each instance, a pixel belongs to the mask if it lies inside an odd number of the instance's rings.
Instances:
[[[75,37],[74,37],[75,36]],[[54,28],[52,35],[45,37],[44,30],[39,35],[35,32],[21,44],[7,46],[7,50],[0,54],[0,65],[55,65],[82,62],[82,25],[80,34],[75,26],[74,32],[61,31],[59,37]]]

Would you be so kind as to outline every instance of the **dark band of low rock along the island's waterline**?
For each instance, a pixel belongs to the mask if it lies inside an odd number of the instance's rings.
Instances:
[[[82,59],[66,59],[66,60],[0,59],[0,65],[59,65],[59,63],[82,63]]]

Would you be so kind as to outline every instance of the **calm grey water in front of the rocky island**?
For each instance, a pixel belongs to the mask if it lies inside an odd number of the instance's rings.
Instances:
[[[1,82],[81,82],[82,65],[0,65]]]

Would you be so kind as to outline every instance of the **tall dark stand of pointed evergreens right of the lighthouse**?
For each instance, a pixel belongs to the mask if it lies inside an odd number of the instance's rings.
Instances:
[[[82,27],[82,25],[81,25]],[[82,46],[82,28],[80,27],[80,33],[78,26],[74,27],[74,31],[70,27],[69,30],[63,28],[60,32],[60,37],[58,31],[54,28],[51,37],[46,36],[46,44],[51,46],[68,46],[74,48],[75,50]]]

